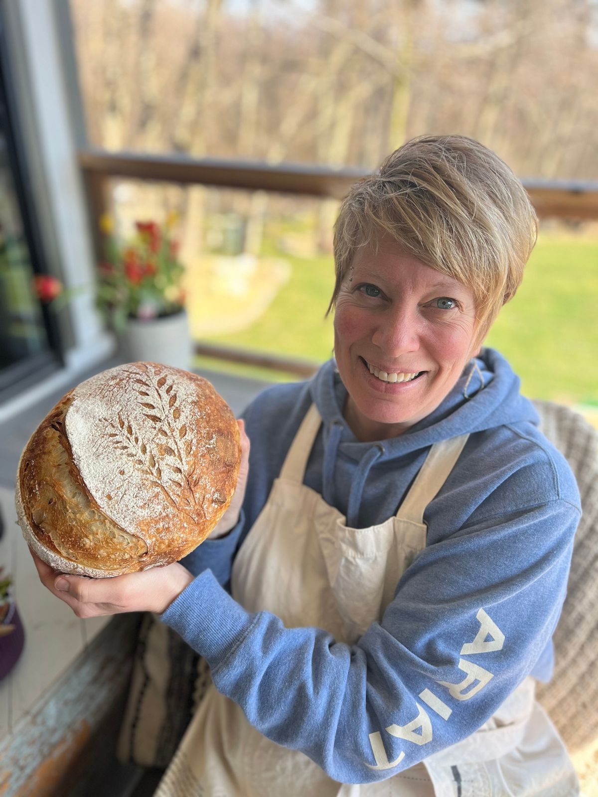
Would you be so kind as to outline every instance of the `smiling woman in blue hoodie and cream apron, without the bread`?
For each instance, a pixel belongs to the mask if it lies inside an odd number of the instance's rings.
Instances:
[[[247,408],[249,473],[210,540],[116,579],[37,563],[79,616],[163,613],[210,664],[159,795],[578,793],[533,682],[579,496],[480,351],[535,234],[481,144],[400,147],[340,209],[336,362]]]

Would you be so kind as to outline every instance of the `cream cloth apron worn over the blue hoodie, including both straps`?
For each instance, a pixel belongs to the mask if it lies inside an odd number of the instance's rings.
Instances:
[[[320,426],[313,405],[234,561],[232,594],[248,611],[270,611],[287,627],[317,626],[336,641],[353,644],[373,621],[380,621],[400,576],[425,548],[423,512],[446,481],[467,435],[431,447],[396,516],[370,528],[348,528],[336,508],[303,484]],[[372,742],[368,764],[374,747]],[[384,752],[380,755],[384,760]],[[303,753],[262,736],[242,709],[212,685],[155,797],[576,794],[565,748],[533,700],[533,679],[527,678],[466,740],[423,764],[364,785],[337,783]]]

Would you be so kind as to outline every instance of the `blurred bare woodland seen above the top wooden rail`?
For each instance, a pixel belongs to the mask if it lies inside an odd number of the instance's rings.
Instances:
[[[372,168],[407,138],[450,132],[521,176],[598,179],[595,3],[70,7],[99,147]]]

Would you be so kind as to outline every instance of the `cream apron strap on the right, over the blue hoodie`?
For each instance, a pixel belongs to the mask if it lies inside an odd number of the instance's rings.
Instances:
[[[411,489],[399,506],[396,516],[423,524],[423,512],[447,481],[450,471],[462,452],[469,434],[434,443],[427,454]]]

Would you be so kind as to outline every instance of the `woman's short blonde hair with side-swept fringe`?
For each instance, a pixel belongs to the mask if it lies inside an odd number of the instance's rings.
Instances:
[[[464,135],[423,135],[352,186],[334,227],[336,285],[360,246],[390,236],[474,294],[478,339],[511,299],[537,237],[521,182],[498,155]]]

